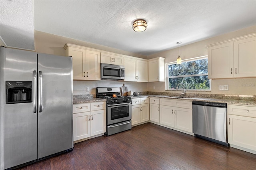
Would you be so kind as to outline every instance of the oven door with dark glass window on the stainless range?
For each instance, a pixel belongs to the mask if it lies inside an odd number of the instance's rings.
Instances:
[[[129,121],[132,119],[132,102],[120,104],[108,104],[107,125]]]

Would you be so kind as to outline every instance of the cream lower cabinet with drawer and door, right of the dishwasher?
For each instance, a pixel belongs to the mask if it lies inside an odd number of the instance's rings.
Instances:
[[[256,154],[256,107],[228,104],[228,143]]]

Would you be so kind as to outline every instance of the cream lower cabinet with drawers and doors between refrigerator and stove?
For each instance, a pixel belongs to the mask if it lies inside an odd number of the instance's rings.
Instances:
[[[106,102],[73,105],[74,141],[106,132]]]

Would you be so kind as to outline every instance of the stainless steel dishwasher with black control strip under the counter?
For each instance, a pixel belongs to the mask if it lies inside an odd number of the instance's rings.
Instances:
[[[192,109],[195,136],[228,146],[227,104],[193,101]]]

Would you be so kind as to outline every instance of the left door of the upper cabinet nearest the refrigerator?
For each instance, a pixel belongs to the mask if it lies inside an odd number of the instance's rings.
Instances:
[[[74,47],[68,47],[68,55],[72,56],[73,63],[73,79],[85,80],[85,62],[86,50]]]

